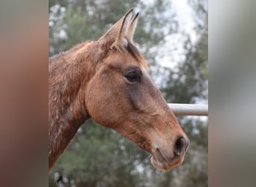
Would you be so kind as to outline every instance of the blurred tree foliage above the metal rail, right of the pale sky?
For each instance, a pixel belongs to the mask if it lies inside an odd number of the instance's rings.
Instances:
[[[198,40],[191,36],[183,43],[185,60],[174,70],[169,70],[168,81],[162,91],[168,102],[195,103],[198,98],[207,99],[208,94],[208,13],[207,0],[189,0],[195,11],[195,31]],[[184,94],[185,92],[185,94]]]

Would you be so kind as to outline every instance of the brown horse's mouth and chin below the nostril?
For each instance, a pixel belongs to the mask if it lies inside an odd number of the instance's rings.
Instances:
[[[177,167],[183,162],[184,156],[175,156],[167,154],[164,150],[156,150],[150,155],[151,164],[162,171],[170,171],[171,168]]]

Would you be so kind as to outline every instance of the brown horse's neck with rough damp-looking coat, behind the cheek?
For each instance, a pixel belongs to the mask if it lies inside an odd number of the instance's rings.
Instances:
[[[90,116],[85,90],[102,58],[96,42],[82,43],[49,61],[49,168]]]

